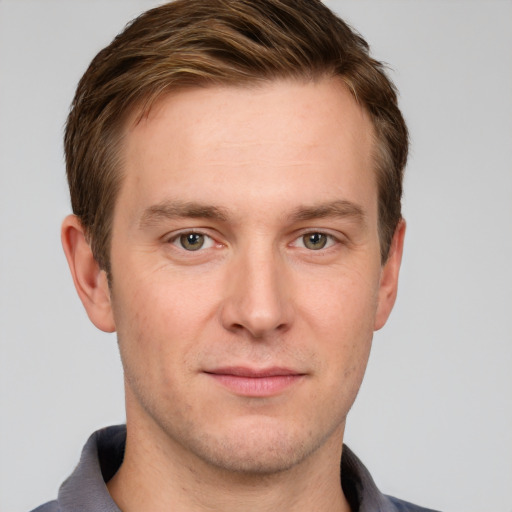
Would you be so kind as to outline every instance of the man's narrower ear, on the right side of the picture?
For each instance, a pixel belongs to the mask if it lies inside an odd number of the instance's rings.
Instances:
[[[398,274],[400,273],[400,263],[402,262],[404,250],[404,237],[405,220],[401,219],[391,241],[388,259],[381,270],[377,313],[373,327],[375,331],[384,327],[395,304],[398,290]]]

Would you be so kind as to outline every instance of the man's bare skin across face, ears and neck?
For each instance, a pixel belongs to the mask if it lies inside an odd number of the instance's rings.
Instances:
[[[188,89],[127,125],[110,289],[76,217],[62,235],[118,333],[123,511],[349,510],[345,420],[405,231],[382,265],[372,137],[336,79]]]

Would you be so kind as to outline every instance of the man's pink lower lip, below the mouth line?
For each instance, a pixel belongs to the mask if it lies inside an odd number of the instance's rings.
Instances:
[[[302,375],[274,375],[271,377],[242,377],[217,373],[208,375],[233,393],[248,397],[277,395],[302,379]]]

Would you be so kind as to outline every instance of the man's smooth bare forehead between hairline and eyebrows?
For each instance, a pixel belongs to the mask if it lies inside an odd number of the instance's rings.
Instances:
[[[376,189],[371,122],[339,79],[180,90],[134,119],[121,188],[133,204],[234,193],[249,204],[264,192],[284,205],[308,191],[334,196],[338,183],[356,195]]]

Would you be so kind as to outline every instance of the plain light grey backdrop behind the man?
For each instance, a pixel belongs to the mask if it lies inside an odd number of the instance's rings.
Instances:
[[[382,491],[512,511],[512,2],[329,6],[390,64],[412,135],[395,311],[346,442]],[[60,247],[62,132],[87,64],[150,0],[0,0],[0,510],[55,498],[95,429],[124,421],[114,335]]]

